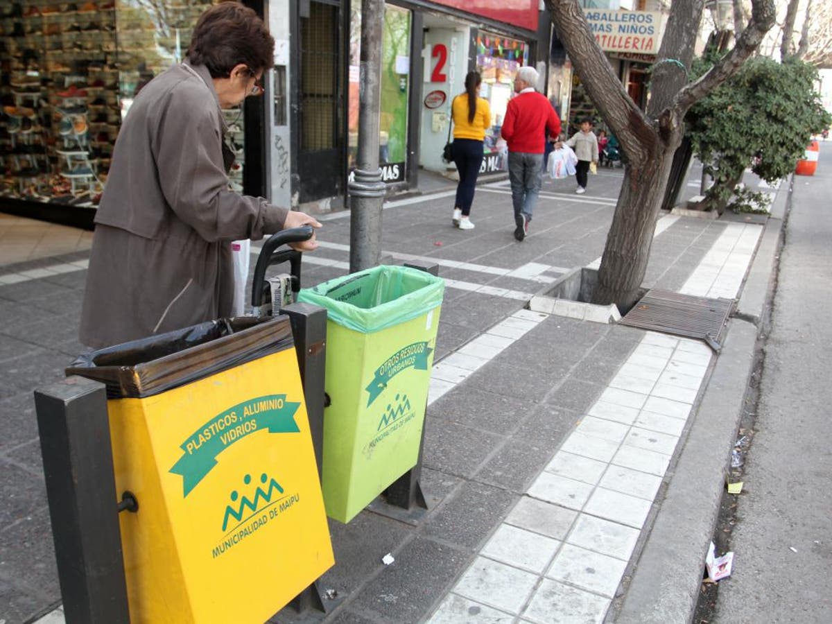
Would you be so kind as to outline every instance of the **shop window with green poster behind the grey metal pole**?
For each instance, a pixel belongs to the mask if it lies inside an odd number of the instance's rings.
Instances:
[[[356,3],[357,4],[357,3]],[[349,32],[349,169],[355,167],[359,136],[359,62],[361,11],[352,8]],[[404,181],[410,91],[410,12],[384,7],[381,60],[379,165],[385,182]]]

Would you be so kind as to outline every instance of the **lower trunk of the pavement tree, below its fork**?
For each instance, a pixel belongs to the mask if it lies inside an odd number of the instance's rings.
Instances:
[[[617,304],[622,314],[638,300],[647,270],[661,200],[681,131],[671,146],[658,145],[641,166],[627,166],[616,213],[598,271],[592,303]]]

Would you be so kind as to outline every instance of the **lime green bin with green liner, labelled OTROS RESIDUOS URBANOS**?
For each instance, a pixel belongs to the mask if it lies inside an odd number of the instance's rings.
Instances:
[[[349,522],[418,462],[444,281],[376,266],[314,288],[326,308],[324,506]]]

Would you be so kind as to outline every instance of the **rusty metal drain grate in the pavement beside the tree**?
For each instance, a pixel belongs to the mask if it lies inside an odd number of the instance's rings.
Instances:
[[[648,290],[620,322],[630,327],[705,340],[718,352],[734,304],[733,299],[708,299],[653,289]]]

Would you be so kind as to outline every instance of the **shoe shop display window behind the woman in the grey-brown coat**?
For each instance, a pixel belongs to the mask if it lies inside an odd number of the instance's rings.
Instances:
[[[96,206],[133,98],[181,62],[211,0],[11,2],[0,7],[0,193]],[[225,111],[241,190],[241,111]]]

